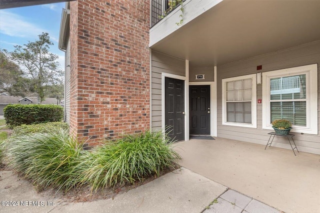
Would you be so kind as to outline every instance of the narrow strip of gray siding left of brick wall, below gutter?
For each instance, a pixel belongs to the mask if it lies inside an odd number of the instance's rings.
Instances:
[[[64,121],[70,123],[70,39],[65,50]]]

